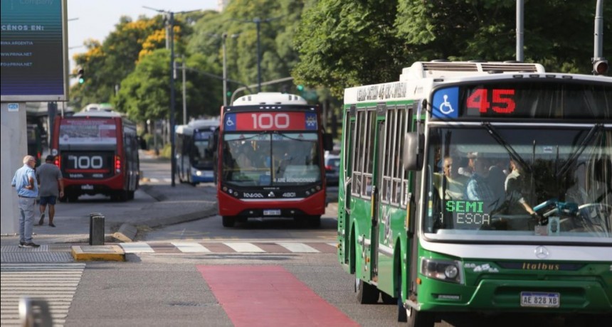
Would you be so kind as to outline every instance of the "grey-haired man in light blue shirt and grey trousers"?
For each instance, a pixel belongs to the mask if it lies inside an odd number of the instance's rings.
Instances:
[[[34,225],[34,207],[38,197],[36,182],[36,159],[33,156],[23,157],[23,167],[17,169],[11,185],[17,190],[19,197],[19,247],[40,247],[32,242]]]

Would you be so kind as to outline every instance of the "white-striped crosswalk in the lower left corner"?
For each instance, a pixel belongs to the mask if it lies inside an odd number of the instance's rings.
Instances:
[[[19,300],[25,296],[46,300],[53,326],[63,326],[84,269],[84,263],[3,263],[0,326],[21,326]]]

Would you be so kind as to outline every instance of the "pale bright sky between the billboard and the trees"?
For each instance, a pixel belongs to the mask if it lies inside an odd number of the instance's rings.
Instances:
[[[73,55],[87,50],[83,43],[90,38],[102,43],[115,31],[121,16],[130,16],[135,21],[140,15],[153,17],[158,14],[143,6],[174,12],[208,10],[218,9],[218,0],[68,0],[70,70],[74,65]]]

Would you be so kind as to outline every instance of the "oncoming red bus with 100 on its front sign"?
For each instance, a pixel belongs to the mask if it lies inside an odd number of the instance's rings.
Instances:
[[[217,198],[224,227],[248,218],[294,218],[312,227],[325,213],[324,149],[332,138],[304,98],[260,92],[221,108]]]

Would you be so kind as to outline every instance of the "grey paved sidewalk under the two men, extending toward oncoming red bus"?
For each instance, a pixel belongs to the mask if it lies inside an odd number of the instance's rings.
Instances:
[[[137,238],[138,229],[184,223],[216,215],[215,192],[216,190],[211,188],[194,188],[181,183],[176,183],[174,187],[145,183],[136,191],[134,197],[135,201],[141,203],[140,206],[107,203],[107,205],[130,207],[130,210],[112,215],[100,212],[105,216],[105,245],[130,242]],[[38,215],[35,216],[34,223],[38,223]],[[67,262],[72,259],[70,256],[72,245],[89,244],[89,213],[83,216],[66,216],[58,213],[56,226],[34,226],[33,240],[41,245],[36,249],[17,247],[19,235],[1,235],[0,262]],[[117,232],[120,232],[119,236],[128,237],[130,240],[113,237]]]

